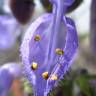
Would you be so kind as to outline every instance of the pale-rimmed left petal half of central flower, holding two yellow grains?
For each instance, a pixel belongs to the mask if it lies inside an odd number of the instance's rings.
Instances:
[[[44,68],[43,65],[46,58],[46,48],[48,47],[46,43],[46,38],[48,38],[48,36],[45,36],[45,34],[49,33],[47,33],[45,29],[48,27],[48,22],[50,22],[49,17],[52,16],[50,14],[45,14],[30,25],[21,45],[21,56],[24,63],[25,75],[33,85],[34,91],[38,91],[39,96],[43,96],[46,87],[46,80],[42,78],[41,74],[46,70],[46,67]],[[36,34],[40,35],[42,42],[39,43],[34,41]],[[39,45],[41,47],[39,47]],[[42,49],[42,47],[44,48]],[[38,70],[34,71],[31,69],[32,62],[38,62]]]

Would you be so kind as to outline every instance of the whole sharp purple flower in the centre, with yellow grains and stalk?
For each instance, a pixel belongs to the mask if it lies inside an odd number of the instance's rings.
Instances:
[[[78,47],[74,22],[64,16],[72,0],[50,0],[53,13],[33,22],[21,45],[24,72],[35,96],[47,96],[69,69]]]

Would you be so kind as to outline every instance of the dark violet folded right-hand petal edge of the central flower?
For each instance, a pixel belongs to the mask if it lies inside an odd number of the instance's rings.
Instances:
[[[77,47],[78,47],[78,38],[76,33],[76,28],[74,25],[74,22],[69,19],[66,19],[67,24],[67,36],[66,36],[66,43],[64,47],[64,55],[60,56],[58,58],[57,63],[55,64],[55,67],[47,81],[47,87],[46,92],[48,93],[50,89],[54,85],[56,85],[58,80],[63,78],[63,75],[66,73],[66,71],[69,69],[71,65],[71,61],[73,56],[76,53]],[[52,74],[55,74],[58,77],[58,80],[51,80]]]

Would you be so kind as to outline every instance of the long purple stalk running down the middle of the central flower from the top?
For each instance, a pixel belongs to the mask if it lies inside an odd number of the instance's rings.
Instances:
[[[56,42],[57,34],[60,31],[63,15],[66,10],[66,7],[64,8],[64,0],[57,0],[56,2],[53,2],[53,3],[54,3],[53,4],[54,5],[53,21],[52,21],[52,30],[51,30],[50,42],[49,42],[49,48],[48,48],[48,58],[47,58],[47,60],[50,60],[50,63],[53,60],[53,54],[54,54],[53,50],[55,48],[53,44],[55,44]]]

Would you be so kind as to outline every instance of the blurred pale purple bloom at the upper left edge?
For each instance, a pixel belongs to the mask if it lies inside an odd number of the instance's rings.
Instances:
[[[10,15],[0,16],[0,50],[11,48],[20,34],[17,21]]]

